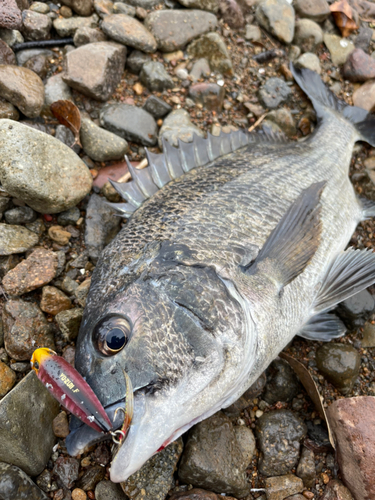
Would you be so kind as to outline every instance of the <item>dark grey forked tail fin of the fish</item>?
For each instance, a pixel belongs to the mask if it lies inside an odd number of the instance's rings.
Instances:
[[[309,97],[314,105],[318,117],[323,118],[325,109],[330,108],[341,113],[351,122],[358,131],[360,140],[375,146],[375,116],[365,109],[349,106],[345,101],[338,99],[326,87],[320,76],[307,68],[296,68],[290,64],[295,81]]]

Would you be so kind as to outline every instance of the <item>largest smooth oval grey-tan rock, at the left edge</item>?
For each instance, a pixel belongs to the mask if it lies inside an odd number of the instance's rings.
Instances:
[[[79,203],[92,186],[83,161],[61,141],[12,120],[0,120],[0,181],[12,196],[41,213]]]

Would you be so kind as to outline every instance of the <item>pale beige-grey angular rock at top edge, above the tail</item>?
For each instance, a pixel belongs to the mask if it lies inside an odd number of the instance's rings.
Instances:
[[[291,43],[294,36],[295,14],[287,0],[261,0],[255,15],[262,28],[280,42]]]

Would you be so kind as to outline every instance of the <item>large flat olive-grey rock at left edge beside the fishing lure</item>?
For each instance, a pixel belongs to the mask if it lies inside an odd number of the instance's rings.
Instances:
[[[0,460],[30,476],[40,474],[55,443],[52,421],[58,412],[59,403],[34,371],[28,373],[0,401]]]

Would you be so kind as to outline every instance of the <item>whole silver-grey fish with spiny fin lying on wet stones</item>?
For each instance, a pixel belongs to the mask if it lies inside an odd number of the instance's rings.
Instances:
[[[348,176],[354,144],[375,146],[375,119],[318,74],[291,71],[317,114],[309,137],[164,141],[146,169],[129,164],[131,182],[113,182],[128,221],[93,272],[75,358],[111,419],[125,405],[123,372],[131,380],[113,482],[235,402],[295,335],[342,336],[331,310],[375,282],[375,254],[347,248],[375,215]],[[73,419],[67,450],[100,439]]]

